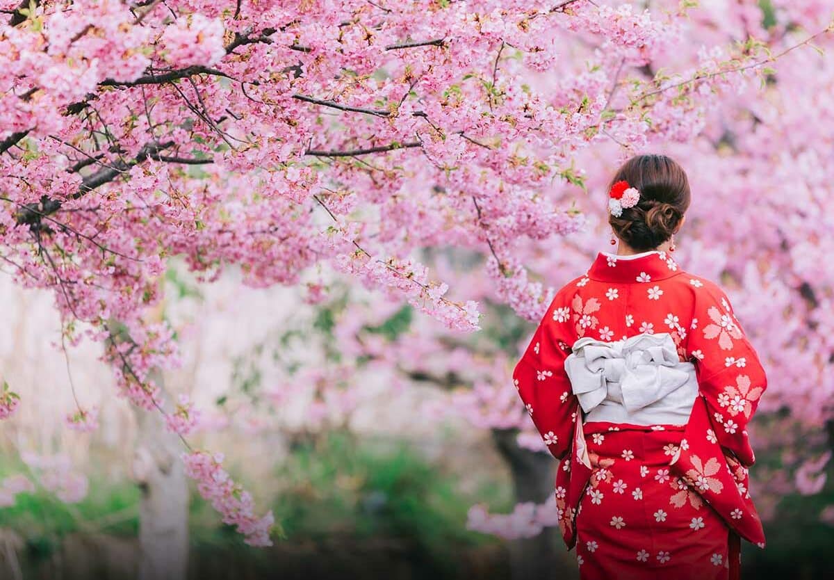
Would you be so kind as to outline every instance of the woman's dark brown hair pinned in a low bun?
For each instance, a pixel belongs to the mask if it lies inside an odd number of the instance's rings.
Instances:
[[[609,215],[616,235],[635,250],[654,250],[669,240],[689,209],[691,194],[686,172],[666,155],[636,155],[626,161],[608,186],[627,181],[640,190],[640,201]]]

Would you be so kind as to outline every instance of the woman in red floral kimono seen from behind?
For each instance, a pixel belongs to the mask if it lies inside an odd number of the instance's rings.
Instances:
[[[681,166],[629,159],[608,203],[617,253],[558,292],[513,373],[565,459],[565,543],[583,580],[737,578],[739,538],[765,541],[746,431],[765,371],[724,292],[671,257],[690,204]]]

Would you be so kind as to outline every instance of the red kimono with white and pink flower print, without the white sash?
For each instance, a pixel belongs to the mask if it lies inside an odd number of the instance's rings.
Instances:
[[[565,371],[576,341],[655,333],[671,335],[679,361],[694,364],[688,421],[586,422]],[[766,376],[717,285],[662,252],[600,253],[555,296],[513,378],[548,449],[565,460],[559,525],[584,580],[736,578],[739,537],[764,547],[746,426]]]

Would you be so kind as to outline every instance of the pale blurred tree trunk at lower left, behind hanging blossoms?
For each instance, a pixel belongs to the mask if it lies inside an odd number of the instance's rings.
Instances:
[[[162,386],[162,376],[154,381]],[[188,567],[188,482],[183,443],[165,428],[158,411],[136,410],[138,433],[133,474],[139,505],[139,580],[184,580]]]

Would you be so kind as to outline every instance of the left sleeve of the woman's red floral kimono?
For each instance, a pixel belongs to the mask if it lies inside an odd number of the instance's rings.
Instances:
[[[570,308],[560,295],[550,304],[513,371],[513,381],[545,445],[556,459],[570,448],[577,399],[565,374],[565,358],[575,341]]]

